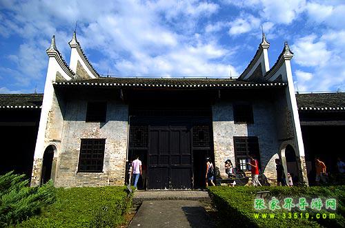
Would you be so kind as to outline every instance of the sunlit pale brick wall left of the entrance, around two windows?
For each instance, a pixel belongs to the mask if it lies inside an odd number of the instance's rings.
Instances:
[[[61,153],[57,164],[57,187],[124,185],[128,106],[108,101],[106,123],[86,123],[87,100],[66,104]],[[106,138],[102,173],[78,173],[81,138]]]

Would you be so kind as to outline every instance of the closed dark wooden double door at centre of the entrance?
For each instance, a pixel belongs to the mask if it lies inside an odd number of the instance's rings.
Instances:
[[[190,127],[150,126],[148,148],[149,189],[191,189],[193,157]]]

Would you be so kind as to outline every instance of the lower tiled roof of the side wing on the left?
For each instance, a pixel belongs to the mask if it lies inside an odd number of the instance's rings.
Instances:
[[[0,94],[0,109],[41,108],[43,94]]]

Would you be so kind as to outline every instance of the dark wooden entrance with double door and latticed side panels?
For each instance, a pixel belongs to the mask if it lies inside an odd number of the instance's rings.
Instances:
[[[206,156],[213,157],[208,118],[136,119],[130,127],[130,158],[139,154],[146,176],[141,189],[204,187]]]

